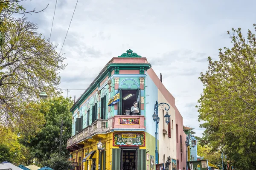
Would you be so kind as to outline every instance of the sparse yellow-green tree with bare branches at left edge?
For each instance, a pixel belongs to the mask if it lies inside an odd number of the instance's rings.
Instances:
[[[0,27],[5,37],[0,52],[0,124],[23,127],[27,133],[41,125],[35,102],[41,91],[55,93],[64,57],[41,37],[36,24],[26,19],[4,24]]]

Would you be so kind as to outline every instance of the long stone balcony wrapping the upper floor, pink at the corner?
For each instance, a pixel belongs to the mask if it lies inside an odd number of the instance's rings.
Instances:
[[[115,115],[108,120],[97,119],[67,140],[67,149],[75,149],[76,145],[96,134],[106,134],[110,131],[145,131],[144,116]],[[81,143],[80,143],[81,144]]]

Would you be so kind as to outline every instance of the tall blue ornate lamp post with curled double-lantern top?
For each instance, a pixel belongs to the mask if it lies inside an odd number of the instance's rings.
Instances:
[[[164,105],[167,105],[168,108],[164,108],[163,107]],[[157,125],[160,122],[160,117],[158,116],[158,110],[160,110],[158,108],[159,106],[161,106],[161,108],[164,108],[164,110],[166,110],[166,115],[164,115],[164,119],[165,119],[167,125],[168,125],[168,123],[170,122],[170,119],[171,119],[171,116],[168,114],[170,106],[167,103],[159,103],[158,105],[157,104],[154,105],[154,114],[152,115],[152,117],[153,117],[154,122],[156,122],[156,132],[155,132],[155,134],[156,134],[156,137],[155,137],[156,138],[156,150],[155,150],[155,153],[156,153],[156,156],[155,156],[156,157],[156,164],[158,163],[158,150],[157,150],[157,134],[158,133],[157,133]]]

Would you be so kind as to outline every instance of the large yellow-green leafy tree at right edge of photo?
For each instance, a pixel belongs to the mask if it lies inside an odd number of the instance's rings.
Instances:
[[[218,61],[208,57],[208,70],[199,77],[199,121],[213,150],[227,154],[236,168],[256,169],[256,37],[248,30],[246,40],[241,28],[227,34],[233,47],[219,49]]]

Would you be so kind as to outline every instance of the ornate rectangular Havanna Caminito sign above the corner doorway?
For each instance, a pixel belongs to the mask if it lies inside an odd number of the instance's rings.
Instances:
[[[145,146],[145,133],[113,133],[113,146]]]

